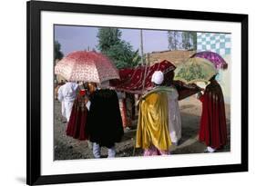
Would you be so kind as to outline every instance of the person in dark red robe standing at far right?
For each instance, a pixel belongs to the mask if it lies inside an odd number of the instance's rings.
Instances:
[[[215,77],[210,78],[204,94],[199,93],[198,96],[202,103],[199,140],[208,146],[205,152],[215,152],[227,142],[224,98]]]

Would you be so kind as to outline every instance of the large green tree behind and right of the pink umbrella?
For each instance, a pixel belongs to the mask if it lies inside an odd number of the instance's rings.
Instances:
[[[140,56],[137,51],[133,51],[132,45],[121,40],[121,31],[118,28],[98,29],[97,49],[108,55],[117,68],[127,68],[138,65]]]

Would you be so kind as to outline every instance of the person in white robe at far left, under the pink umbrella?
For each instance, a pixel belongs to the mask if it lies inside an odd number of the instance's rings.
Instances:
[[[57,92],[57,99],[61,102],[61,113],[69,121],[73,103],[77,97],[79,85],[73,82],[67,82],[60,86]]]

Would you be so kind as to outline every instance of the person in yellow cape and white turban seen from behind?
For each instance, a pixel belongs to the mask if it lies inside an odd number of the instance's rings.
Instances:
[[[168,94],[171,89],[160,86],[164,75],[156,71],[151,82],[155,87],[140,98],[136,148],[144,149],[144,156],[169,154]]]

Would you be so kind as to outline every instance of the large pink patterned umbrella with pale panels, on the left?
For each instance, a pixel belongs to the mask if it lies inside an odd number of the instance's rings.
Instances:
[[[67,81],[102,83],[119,79],[118,69],[104,54],[77,51],[68,54],[55,66],[55,73]]]

